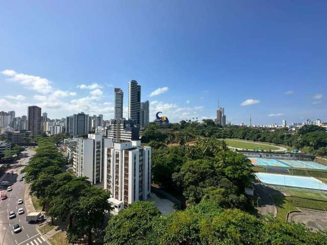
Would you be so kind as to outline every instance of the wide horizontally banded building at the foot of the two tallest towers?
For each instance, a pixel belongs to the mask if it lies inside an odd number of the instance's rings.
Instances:
[[[135,127],[134,120],[112,119],[107,127],[107,137],[113,142],[139,140],[139,128]]]

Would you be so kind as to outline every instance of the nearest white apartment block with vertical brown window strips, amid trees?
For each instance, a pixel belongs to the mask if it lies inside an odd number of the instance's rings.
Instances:
[[[141,141],[113,143],[104,154],[104,188],[117,213],[128,204],[147,200],[151,193],[151,147]]]

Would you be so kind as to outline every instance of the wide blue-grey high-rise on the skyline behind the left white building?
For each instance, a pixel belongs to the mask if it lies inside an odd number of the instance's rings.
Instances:
[[[84,112],[66,117],[66,134],[78,137],[89,133],[89,116]]]

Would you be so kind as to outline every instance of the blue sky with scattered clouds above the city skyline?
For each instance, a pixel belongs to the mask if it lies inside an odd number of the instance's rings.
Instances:
[[[326,121],[326,9],[326,1],[5,1],[0,111],[22,115],[36,104],[51,118],[109,119],[113,88],[123,89],[127,112],[134,79],[150,119],[158,110],[171,121],[213,118],[219,98],[233,124],[250,114],[254,124]]]

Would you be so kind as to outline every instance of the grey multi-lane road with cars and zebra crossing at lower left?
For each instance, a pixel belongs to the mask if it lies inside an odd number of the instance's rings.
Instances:
[[[29,161],[29,158],[34,154],[34,151],[27,149],[24,154],[25,158],[22,158],[18,164],[14,164],[10,169],[2,176],[2,181],[10,181],[12,183],[12,191],[7,191],[4,188],[3,194],[7,194],[6,200],[0,201],[0,245],[43,245],[49,244],[48,241],[43,238],[35,228],[35,225],[28,224],[26,222],[26,214],[18,214],[19,208],[24,208],[26,212],[25,202],[17,205],[17,200],[24,200],[25,190],[27,184],[25,181],[18,181],[22,176],[20,170],[22,170]],[[8,214],[10,211],[16,213],[16,217],[9,219]],[[19,224],[22,231],[19,233],[13,233],[12,226]]]

